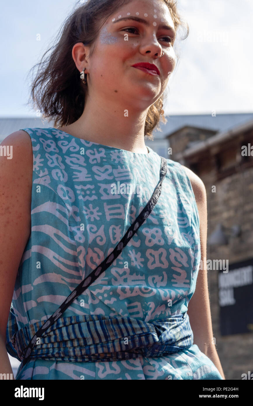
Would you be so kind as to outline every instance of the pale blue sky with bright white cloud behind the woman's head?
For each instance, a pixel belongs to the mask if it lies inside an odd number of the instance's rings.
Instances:
[[[49,48],[77,4],[71,0],[5,2],[0,15],[0,117],[35,117],[26,106],[29,69]],[[216,114],[253,111],[252,0],[178,0],[187,39],[168,84],[164,112]],[[37,41],[37,34],[40,41]]]

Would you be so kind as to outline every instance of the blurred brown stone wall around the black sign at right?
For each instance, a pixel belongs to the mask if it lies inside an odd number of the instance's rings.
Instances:
[[[229,239],[228,245],[208,245],[207,259],[228,259],[235,263],[253,257],[253,167],[241,168],[230,177],[214,181],[214,171],[198,174],[205,184],[208,201],[208,236],[218,223],[230,228],[241,227],[239,237]],[[212,193],[212,186],[216,193]],[[226,379],[241,380],[242,374],[253,373],[253,332],[229,336],[220,335],[218,304],[218,270],[208,271],[208,286],[216,349]],[[253,293],[253,292],[252,292]],[[236,323],[236,320],[235,320]],[[253,378],[253,377],[252,377]]]

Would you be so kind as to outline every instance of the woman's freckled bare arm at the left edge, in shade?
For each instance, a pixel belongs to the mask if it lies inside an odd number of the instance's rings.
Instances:
[[[2,146],[12,146],[12,159],[0,156],[0,373],[12,373],[5,348],[6,326],[17,270],[31,232],[32,143],[16,131]]]

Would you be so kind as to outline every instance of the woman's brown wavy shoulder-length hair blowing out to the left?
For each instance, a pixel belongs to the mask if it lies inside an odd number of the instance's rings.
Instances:
[[[53,120],[54,127],[74,123],[80,118],[85,107],[87,84],[82,83],[80,72],[72,58],[73,46],[78,42],[93,45],[92,54],[99,30],[106,19],[119,7],[131,1],[88,0],[85,4],[78,6],[63,22],[56,36],[56,43],[43,54],[41,61],[30,69],[29,73],[38,67],[30,91],[32,105],[36,106],[42,117]],[[179,26],[184,27],[186,35],[183,39],[188,37],[189,27],[178,15],[177,2],[161,1],[169,7],[176,32]],[[51,50],[52,52],[46,56]],[[150,106],[147,112],[144,134],[151,139],[161,115],[163,122],[167,122],[162,110],[163,95]],[[30,99],[28,103],[30,104]]]

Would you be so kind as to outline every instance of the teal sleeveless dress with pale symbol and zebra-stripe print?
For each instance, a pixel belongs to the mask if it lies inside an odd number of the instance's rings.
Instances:
[[[22,130],[30,135],[34,158],[31,233],[6,329],[7,351],[19,361],[36,330],[113,251],[149,201],[161,167],[150,147],[147,154],[133,153],[52,127]],[[167,159],[151,214],[40,337],[16,379],[223,379],[193,344],[187,314],[200,259],[190,179],[181,164]],[[134,349],[123,351],[128,337]],[[82,348],[84,361],[76,355]]]

